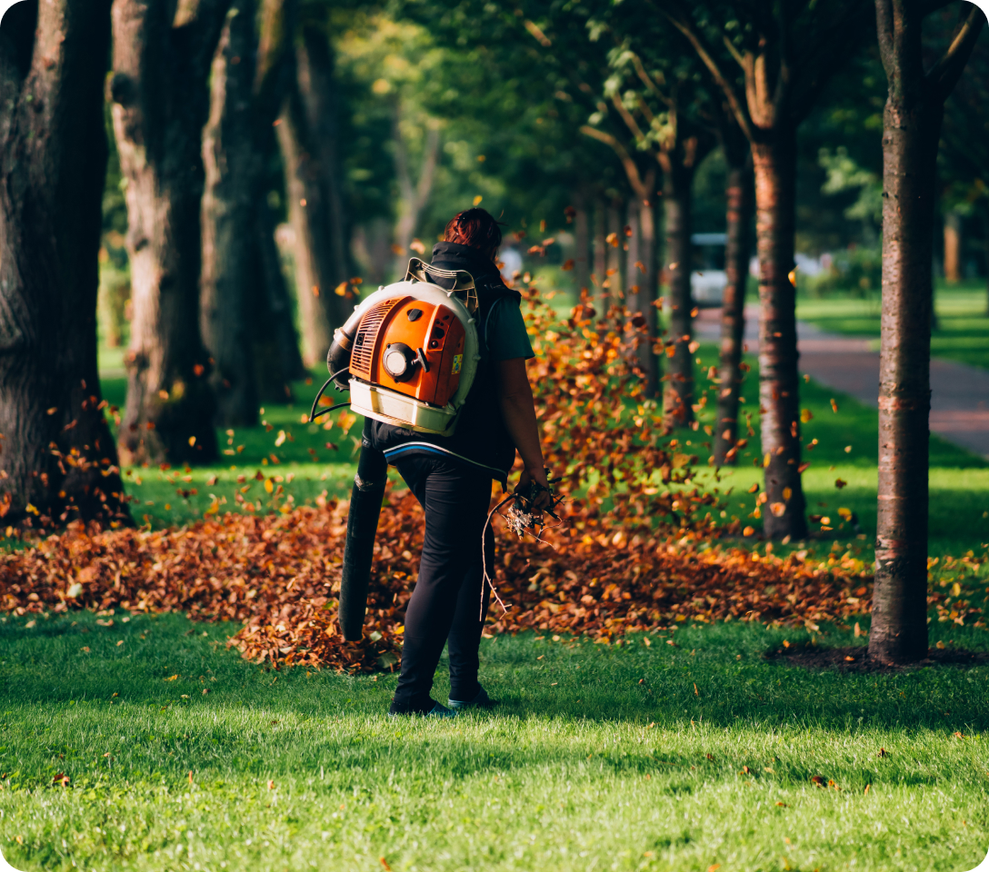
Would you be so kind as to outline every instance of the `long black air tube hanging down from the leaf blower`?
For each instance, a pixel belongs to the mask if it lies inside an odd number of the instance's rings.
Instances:
[[[357,642],[364,633],[364,614],[371,581],[371,559],[378,517],[385,498],[388,462],[372,447],[370,419],[364,421],[361,456],[350,491],[347,539],[343,547],[343,577],[340,580],[340,630],[347,642]]]

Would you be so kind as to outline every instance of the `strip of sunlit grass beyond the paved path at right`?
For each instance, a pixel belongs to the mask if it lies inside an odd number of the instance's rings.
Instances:
[[[935,305],[939,323],[931,337],[931,354],[989,369],[989,314],[985,282],[965,281],[952,287],[939,283]],[[878,297],[866,300],[800,300],[797,304],[798,318],[833,333],[873,337],[876,348],[879,313]]]

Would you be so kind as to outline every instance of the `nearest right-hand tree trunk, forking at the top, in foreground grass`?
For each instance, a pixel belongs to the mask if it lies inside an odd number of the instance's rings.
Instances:
[[[927,654],[928,449],[932,241],[944,100],[985,18],[972,9],[925,74],[922,15],[876,0],[889,96],[883,113],[882,332],[879,487],[869,655],[904,663]]]

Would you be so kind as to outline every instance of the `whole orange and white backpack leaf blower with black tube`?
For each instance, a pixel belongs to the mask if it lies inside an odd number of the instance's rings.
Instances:
[[[470,273],[412,258],[404,281],[379,288],[333,333],[326,356],[330,376],[316,394],[310,421],[340,405],[365,417],[340,581],[340,631],[348,642],[363,635],[388,471],[384,454],[372,445],[370,419],[453,435],[480,360],[477,308]],[[330,382],[349,391],[350,400],[316,412]]]

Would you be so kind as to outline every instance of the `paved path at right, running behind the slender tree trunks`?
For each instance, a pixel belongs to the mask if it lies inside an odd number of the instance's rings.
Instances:
[[[701,310],[696,322],[698,338],[718,338],[720,314],[719,309]],[[751,353],[759,351],[759,306],[746,306],[745,341]],[[879,352],[872,350],[873,344],[868,339],[825,333],[803,321],[797,324],[800,371],[875,408]],[[989,371],[938,358],[931,361],[931,430],[989,458]]]

